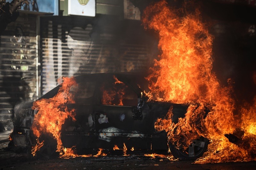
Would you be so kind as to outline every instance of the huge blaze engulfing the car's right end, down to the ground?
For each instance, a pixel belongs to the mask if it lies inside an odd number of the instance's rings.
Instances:
[[[144,10],[142,23],[145,29],[159,33],[158,48],[162,52],[146,78],[150,89],[146,95],[149,100],[189,105],[177,124],[171,120],[170,108],[166,117],[155,123],[156,130],[166,130],[169,143],[184,150],[200,136],[209,139],[208,156],[196,163],[256,160],[256,122],[252,119],[256,103],[234,114],[239,106],[231,97],[232,81],[228,79],[229,85],[223,87],[212,72],[213,36],[200,11],[171,9],[162,0]],[[232,144],[225,134],[240,137],[243,142]]]

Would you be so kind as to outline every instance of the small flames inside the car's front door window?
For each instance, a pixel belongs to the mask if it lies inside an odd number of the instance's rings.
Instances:
[[[104,105],[123,106],[123,95],[125,94],[124,90],[126,88],[126,85],[123,82],[119,81],[116,78],[116,76],[113,76],[113,78],[116,80],[113,83],[113,87],[111,87],[107,90],[105,89],[104,85],[101,87],[101,91],[102,91],[101,103],[104,104]],[[121,84],[122,88],[117,90],[116,84]],[[116,103],[115,99],[118,99],[119,103]]]

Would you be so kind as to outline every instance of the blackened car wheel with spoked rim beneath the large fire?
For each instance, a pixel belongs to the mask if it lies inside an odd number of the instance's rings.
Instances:
[[[200,137],[193,140],[193,142],[188,146],[185,151],[182,149],[177,149],[174,144],[169,143],[170,151],[174,158],[179,160],[196,160],[203,156],[204,152],[207,150],[209,140]]]

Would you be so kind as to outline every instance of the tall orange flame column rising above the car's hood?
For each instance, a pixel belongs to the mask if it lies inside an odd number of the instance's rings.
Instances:
[[[155,60],[147,77],[148,96],[173,103],[212,101],[219,87],[211,73],[213,37],[200,21],[198,10],[195,16],[180,18],[178,14],[165,1],[144,11],[142,22],[145,28],[159,32],[158,48],[162,50],[161,60]]]

